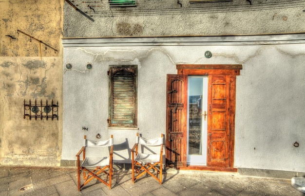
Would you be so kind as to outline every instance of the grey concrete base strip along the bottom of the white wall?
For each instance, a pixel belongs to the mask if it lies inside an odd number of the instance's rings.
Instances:
[[[60,160],[62,167],[77,167],[76,160]],[[114,169],[131,169],[131,163],[114,163]],[[281,170],[267,170],[267,169],[249,169],[238,168],[238,175],[241,176],[255,176],[264,178],[283,178],[291,179],[293,177],[305,177],[305,172],[289,172]]]

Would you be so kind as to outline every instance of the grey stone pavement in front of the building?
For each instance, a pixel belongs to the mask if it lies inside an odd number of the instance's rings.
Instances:
[[[149,176],[133,184],[131,170],[116,169],[111,190],[92,180],[78,192],[76,168],[0,166],[0,196],[302,196],[288,179],[172,168],[163,177],[162,185]]]

